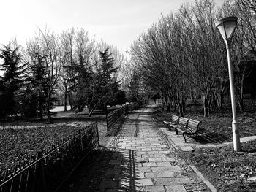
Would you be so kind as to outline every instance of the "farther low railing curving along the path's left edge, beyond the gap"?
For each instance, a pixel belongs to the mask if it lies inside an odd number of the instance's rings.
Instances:
[[[110,130],[115,126],[116,122],[121,117],[121,115],[123,115],[127,111],[137,109],[138,106],[138,103],[125,104],[124,106],[119,107],[118,109],[106,115],[107,134],[109,134]]]

